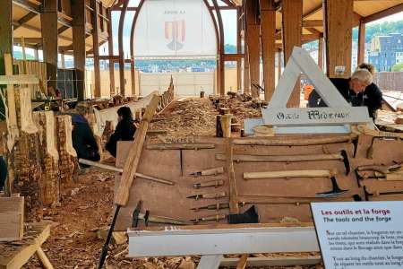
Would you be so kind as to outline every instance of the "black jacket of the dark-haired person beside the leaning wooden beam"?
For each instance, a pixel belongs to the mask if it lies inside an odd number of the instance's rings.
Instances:
[[[117,123],[115,133],[110,136],[105,148],[116,158],[117,142],[133,140],[135,132],[136,127],[133,124],[133,120],[130,118],[123,118]]]

